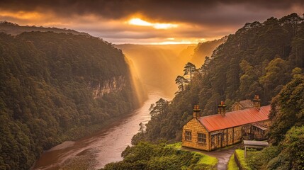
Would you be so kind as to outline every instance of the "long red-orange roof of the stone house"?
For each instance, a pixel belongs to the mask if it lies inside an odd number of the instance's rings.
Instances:
[[[228,112],[225,116],[220,114],[203,116],[199,118],[199,121],[209,132],[212,132],[268,120],[269,112],[270,106],[262,106],[260,110],[257,108],[247,108],[240,111]]]

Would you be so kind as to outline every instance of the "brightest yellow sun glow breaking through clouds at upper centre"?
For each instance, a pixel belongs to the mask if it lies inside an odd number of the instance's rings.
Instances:
[[[134,26],[150,26],[155,29],[169,29],[169,28],[176,28],[179,25],[172,24],[172,23],[150,23],[147,21],[143,21],[140,18],[132,18],[130,21],[128,21],[128,24],[134,25]]]

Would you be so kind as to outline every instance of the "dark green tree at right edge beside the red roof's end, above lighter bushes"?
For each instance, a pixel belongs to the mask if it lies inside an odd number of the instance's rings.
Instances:
[[[304,76],[297,74],[271,103],[270,142],[278,145],[293,125],[304,125]]]

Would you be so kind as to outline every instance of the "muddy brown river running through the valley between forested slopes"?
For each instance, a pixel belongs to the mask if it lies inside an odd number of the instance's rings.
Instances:
[[[133,111],[128,118],[118,120],[94,135],[53,147],[43,153],[33,169],[60,169],[67,162],[78,162],[79,157],[85,158],[79,162],[89,164],[89,169],[100,169],[110,162],[122,160],[121,152],[131,145],[133,135],[140,128],[139,124],[146,124],[150,120],[149,108],[159,98],[169,100],[161,91],[150,92],[143,106]]]

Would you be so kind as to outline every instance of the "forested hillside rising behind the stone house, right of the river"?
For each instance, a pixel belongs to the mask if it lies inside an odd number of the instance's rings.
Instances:
[[[264,23],[246,23],[196,68],[192,80],[187,83],[176,79],[184,88],[171,102],[161,99],[151,108],[152,120],[136,140],[181,140],[181,128],[192,118],[195,104],[202,108],[203,115],[217,113],[220,101],[231,106],[254,94],[261,96],[262,105],[269,104],[303,68],[303,18],[292,13],[280,19],[271,17]]]

